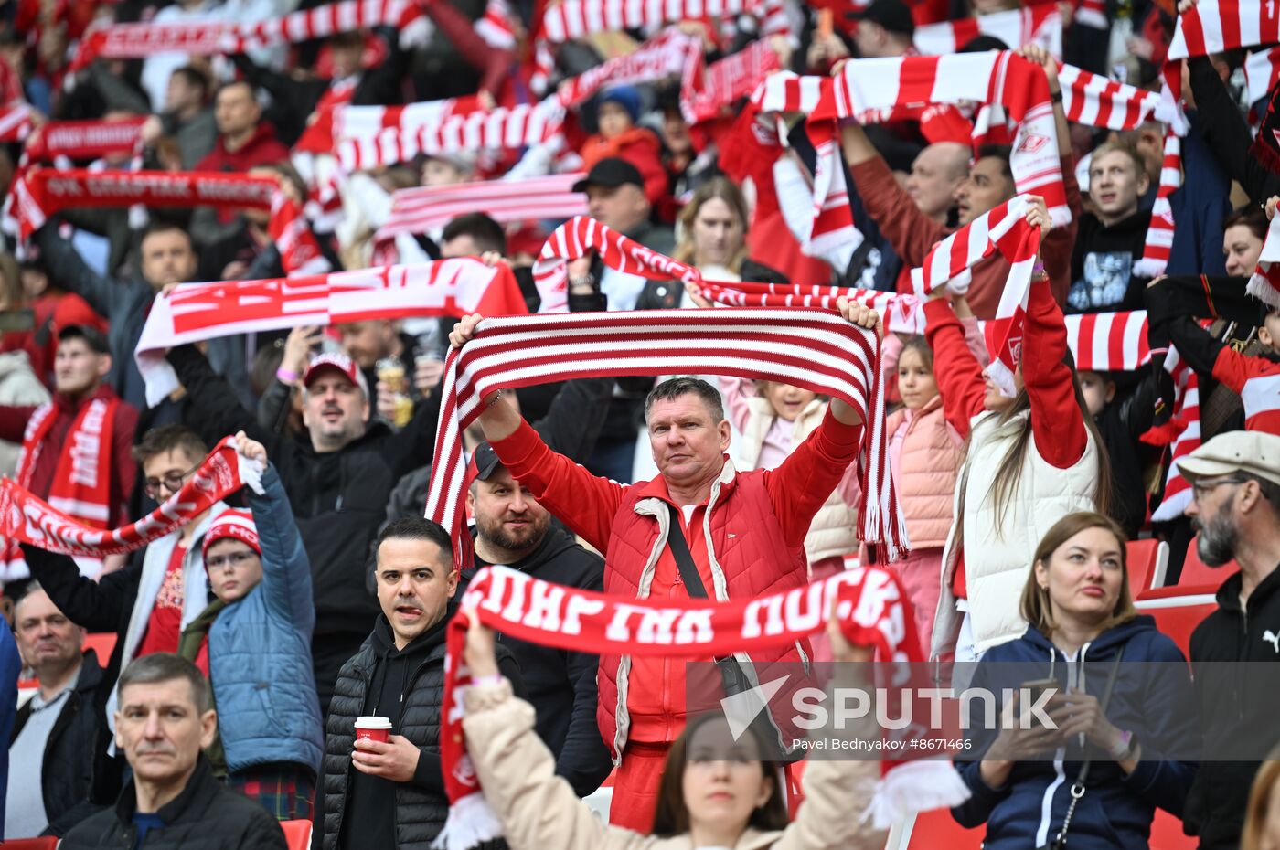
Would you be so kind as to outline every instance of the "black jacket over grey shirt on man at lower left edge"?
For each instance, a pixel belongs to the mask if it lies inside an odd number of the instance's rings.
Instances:
[[[97,653],[86,650],[76,685],[67,695],[45,741],[44,768],[40,774],[45,814],[49,817],[45,835],[64,836],[69,828],[99,810],[99,806],[90,805],[88,791],[93,778],[93,753],[101,716],[96,707],[101,687],[102,667],[97,663]],[[31,700],[18,709],[10,746],[28,718]]]

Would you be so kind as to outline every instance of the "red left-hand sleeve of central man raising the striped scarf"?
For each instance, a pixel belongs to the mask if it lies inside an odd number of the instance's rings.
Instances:
[[[526,421],[507,439],[493,443],[493,451],[544,508],[598,550],[608,549],[613,517],[630,489],[627,485],[591,475],[550,451]]]

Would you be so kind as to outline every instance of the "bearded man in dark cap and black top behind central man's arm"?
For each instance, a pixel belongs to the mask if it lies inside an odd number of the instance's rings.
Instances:
[[[538,504],[498,461],[493,447],[475,452],[476,479],[467,493],[475,516],[476,567],[498,563],[570,588],[604,591],[604,559],[553,526]],[[463,572],[470,580],[475,570]],[[538,736],[556,755],[556,773],[568,780],[579,796],[598,787],[613,769],[595,722],[595,668],[599,657],[540,646],[499,635],[520,663],[529,702],[538,713]]]

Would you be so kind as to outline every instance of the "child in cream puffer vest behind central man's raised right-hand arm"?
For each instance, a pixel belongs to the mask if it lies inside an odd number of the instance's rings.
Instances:
[[[808,389],[742,378],[719,381],[730,422],[742,434],[736,463],[744,471],[777,469],[827,413],[828,399]],[[858,552],[858,475],[850,466],[813,517],[805,536],[810,581],[840,572],[845,568],[845,556]],[[814,635],[812,641],[814,661],[831,661],[827,636]]]

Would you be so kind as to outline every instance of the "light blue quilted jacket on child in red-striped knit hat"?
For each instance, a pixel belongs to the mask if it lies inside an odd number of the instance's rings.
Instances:
[[[209,630],[209,678],[227,769],[289,762],[320,773],[320,702],[311,672],[311,562],[274,466],[246,488],[262,547],[262,581]],[[355,565],[353,568],[358,568]]]

